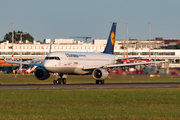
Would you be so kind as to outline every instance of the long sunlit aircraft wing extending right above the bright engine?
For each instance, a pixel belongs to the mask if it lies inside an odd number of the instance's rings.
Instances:
[[[146,65],[146,64],[155,64],[166,61],[156,61],[156,62],[141,62],[141,63],[126,63],[126,64],[113,64],[113,65],[105,65],[105,66],[84,66],[83,70],[92,70],[96,68],[114,68],[114,67],[124,67],[124,66],[132,66],[132,65]]]

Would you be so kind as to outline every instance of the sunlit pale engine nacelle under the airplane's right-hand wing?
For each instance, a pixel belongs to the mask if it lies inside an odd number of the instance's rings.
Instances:
[[[96,80],[104,80],[108,77],[109,72],[106,69],[97,68],[93,71],[92,75]]]

